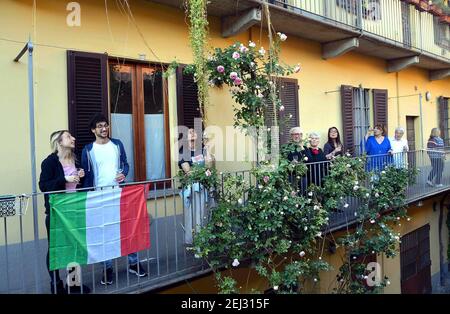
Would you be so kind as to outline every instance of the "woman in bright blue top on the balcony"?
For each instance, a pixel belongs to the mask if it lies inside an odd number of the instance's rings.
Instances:
[[[373,132],[373,135],[370,133]],[[367,131],[365,137],[365,149],[368,157],[368,171],[381,171],[392,162],[391,142],[387,138],[384,125],[377,124],[373,129]]]

